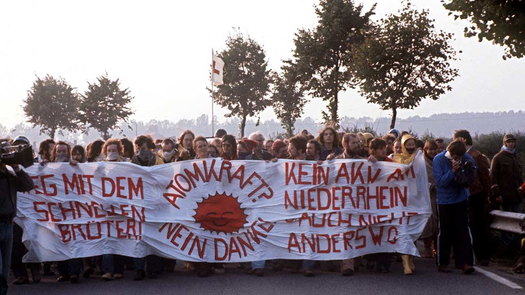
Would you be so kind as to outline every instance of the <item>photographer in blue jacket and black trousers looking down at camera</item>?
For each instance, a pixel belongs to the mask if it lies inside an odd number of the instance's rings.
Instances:
[[[453,246],[456,266],[463,269],[466,275],[474,272],[474,252],[468,227],[468,196],[476,171],[476,163],[467,154],[463,141],[451,142],[446,151],[434,157],[432,174],[436,181],[439,218],[436,262],[440,272],[452,271],[448,264]]]

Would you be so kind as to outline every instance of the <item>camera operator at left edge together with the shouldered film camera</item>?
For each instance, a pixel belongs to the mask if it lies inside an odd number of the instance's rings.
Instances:
[[[2,142],[0,146],[0,295],[7,293],[17,192],[28,192],[35,186],[31,177],[20,167],[33,164],[31,147],[8,145]]]

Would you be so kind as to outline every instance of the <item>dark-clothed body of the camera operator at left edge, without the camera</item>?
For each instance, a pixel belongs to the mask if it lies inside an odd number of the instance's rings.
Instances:
[[[6,149],[2,149],[5,153]],[[7,293],[9,262],[13,249],[13,218],[16,215],[17,192],[28,192],[34,188],[33,180],[18,164],[6,164],[0,158],[0,295]]]

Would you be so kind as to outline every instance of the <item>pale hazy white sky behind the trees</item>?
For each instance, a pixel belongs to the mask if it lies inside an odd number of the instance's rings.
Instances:
[[[293,34],[317,23],[312,0],[266,1],[4,1],[0,4],[0,124],[24,121],[27,90],[46,74],[65,78],[83,92],[87,81],[104,72],[120,78],[135,99],[132,119],[172,120],[211,114],[211,49],[224,49],[232,27],[240,27],[264,46],[271,69],[291,57]],[[377,2],[375,18],[396,12],[401,1]],[[413,0],[428,8],[436,27],[455,34],[452,45],[463,50],[454,63],[460,77],[453,91],[438,101],[424,101],[406,118],[441,112],[507,111],[525,108],[525,58],[503,61],[503,49],[488,41],[465,38],[464,21],[447,16],[438,0]],[[359,1],[358,1],[359,3]],[[227,67],[228,65],[226,65]],[[321,119],[325,103],[311,99],[304,116]],[[390,117],[367,104],[355,90],[340,95],[340,114]],[[215,106],[224,120],[226,110]],[[275,118],[271,108],[261,119]]]

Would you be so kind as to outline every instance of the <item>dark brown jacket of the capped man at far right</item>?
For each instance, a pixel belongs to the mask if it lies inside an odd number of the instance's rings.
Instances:
[[[490,165],[490,181],[492,185],[499,186],[503,203],[521,202],[518,187],[523,183],[523,179],[516,154],[501,151],[493,157]]]

